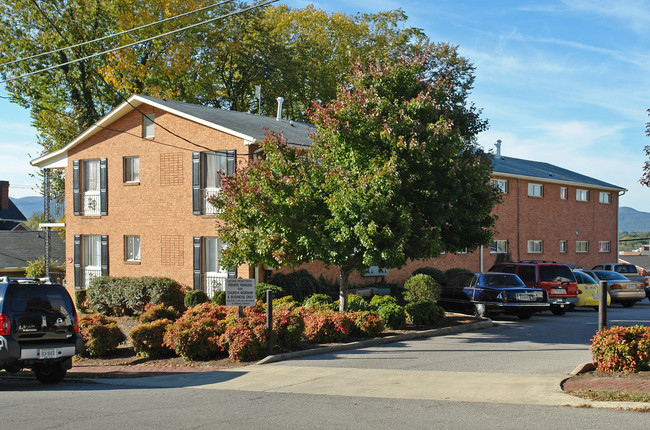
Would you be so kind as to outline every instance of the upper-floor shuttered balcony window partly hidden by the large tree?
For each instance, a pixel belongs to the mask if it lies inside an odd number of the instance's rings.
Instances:
[[[237,152],[209,151],[192,154],[192,205],[194,215],[213,215],[210,200],[221,191],[221,182],[235,172]]]

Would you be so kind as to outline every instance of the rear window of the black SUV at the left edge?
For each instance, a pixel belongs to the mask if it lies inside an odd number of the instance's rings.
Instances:
[[[5,306],[13,312],[57,311],[64,316],[74,312],[70,296],[51,285],[9,286]]]

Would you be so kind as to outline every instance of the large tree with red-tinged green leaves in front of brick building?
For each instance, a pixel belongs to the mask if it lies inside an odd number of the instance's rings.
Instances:
[[[354,270],[487,245],[499,197],[473,144],[487,126],[467,100],[473,70],[447,44],[357,64],[315,106],[310,149],[270,135],[265,157],[224,186],[224,264],[321,260],[339,268],[343,310]]]

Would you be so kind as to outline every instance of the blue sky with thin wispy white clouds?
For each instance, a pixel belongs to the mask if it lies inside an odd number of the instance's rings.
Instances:
[[[650,145],[650,0],[285,0],[347,14],[401,8],[407,25],[459,46],[476,67],[470,101],[505,156],[548,162],[626,188],[619,205],[650,212],[639,184]],[[0,90],[0,180],[35,195],[29,112]]]

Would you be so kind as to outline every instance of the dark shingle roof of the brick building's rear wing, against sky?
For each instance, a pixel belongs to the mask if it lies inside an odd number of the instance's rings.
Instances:
[[[581,175],[580,173],[563,169],[549,163],[523,160],[521,158],[494,156],[493,171],[497,175],[501,173],[514,176],[527,176],[543,179],[546,181],[578,183],[598,188],[611,188],[621,191],[625,190],[625,188],[619,187],[617,185],[609,184],[607,182],[603,182],[589,176]]]

